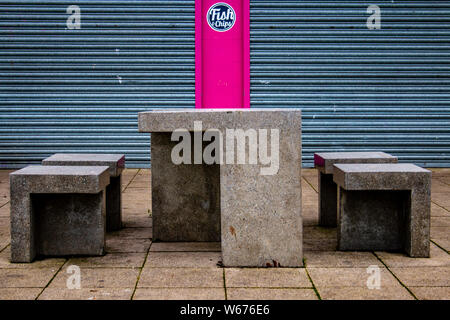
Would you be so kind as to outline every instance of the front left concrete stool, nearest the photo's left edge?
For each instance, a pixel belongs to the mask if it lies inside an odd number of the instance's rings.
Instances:
[[[11,261],[103,255],[108,169],[28,166],[11,173]]]

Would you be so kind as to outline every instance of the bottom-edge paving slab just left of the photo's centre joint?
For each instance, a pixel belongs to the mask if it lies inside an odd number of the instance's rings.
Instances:
[[[225,300],[225,289],[138,288],[133,300]]]

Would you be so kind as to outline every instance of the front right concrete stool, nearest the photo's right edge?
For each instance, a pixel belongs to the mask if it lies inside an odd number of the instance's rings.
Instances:
[[[431,172],[413,164],[335,164],[338,250],[429,257]]]

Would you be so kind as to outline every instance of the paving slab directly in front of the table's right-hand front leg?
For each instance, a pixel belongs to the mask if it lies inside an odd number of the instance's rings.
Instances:
[[[304,268],[225,268],[227,288],[312,288]]]

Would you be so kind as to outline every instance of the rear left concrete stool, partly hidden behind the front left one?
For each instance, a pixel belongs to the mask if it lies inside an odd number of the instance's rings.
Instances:
[[[50,166],[108,166],[111,177],[106,187],[106,231],[122,228],[122,170],[125,155],[102,153],[57,153],[44,159]]]

